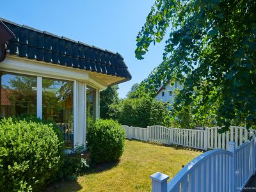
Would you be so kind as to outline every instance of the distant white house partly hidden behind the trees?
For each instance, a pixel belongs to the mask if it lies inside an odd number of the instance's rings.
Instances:
[[[177,89],[182,89],[182,85],[178,81],[175,81],[173,85],[171,83],[163,84],[156,93],[156,99],[172,104]]]

